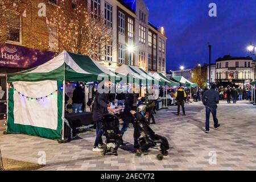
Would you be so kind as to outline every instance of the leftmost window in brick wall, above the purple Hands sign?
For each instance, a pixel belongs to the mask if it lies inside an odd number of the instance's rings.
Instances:
[[[10,26],[7,27],[7,40],[20,42],[20,16],[14,15],[10,19]]]

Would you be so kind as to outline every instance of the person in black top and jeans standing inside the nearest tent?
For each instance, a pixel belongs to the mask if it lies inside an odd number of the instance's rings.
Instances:
[[[82,90],[79,82],[76,82],[76,88],[73,91],[73,97],[72,97],[73,113],[77,113],[77,111],[82,111],[83,103],[84,103],[84,91]]]

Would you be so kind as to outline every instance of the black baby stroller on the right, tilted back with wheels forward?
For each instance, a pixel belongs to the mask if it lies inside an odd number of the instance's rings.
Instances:
[[[155,148],[160,151],[156,157],[158,160],[163,160],[163,156],[168,155],[169,144],[165,137],[157,135],[148,126],[147,119],[144,116],[147,110],[147,105],[141,105],[138,107],[138,113],[134,115],[135,127],[140,135],[139,146],[141,151],[137,151],[137,156],[141,156],[143,152],[147,152],[149,148]]]

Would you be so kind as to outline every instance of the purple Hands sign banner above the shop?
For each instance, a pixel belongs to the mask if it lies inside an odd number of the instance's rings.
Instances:
[[[55,52],[0,44],[0,67],[30,69],[46,63],[53,56]]]

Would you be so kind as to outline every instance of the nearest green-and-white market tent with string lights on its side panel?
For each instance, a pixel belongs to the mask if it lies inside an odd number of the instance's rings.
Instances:
[[[67,51],[39,67],[8,74],[7,133],[63,138],[65,81],[101,81],[104,76],[117,77],[89,56]]]

